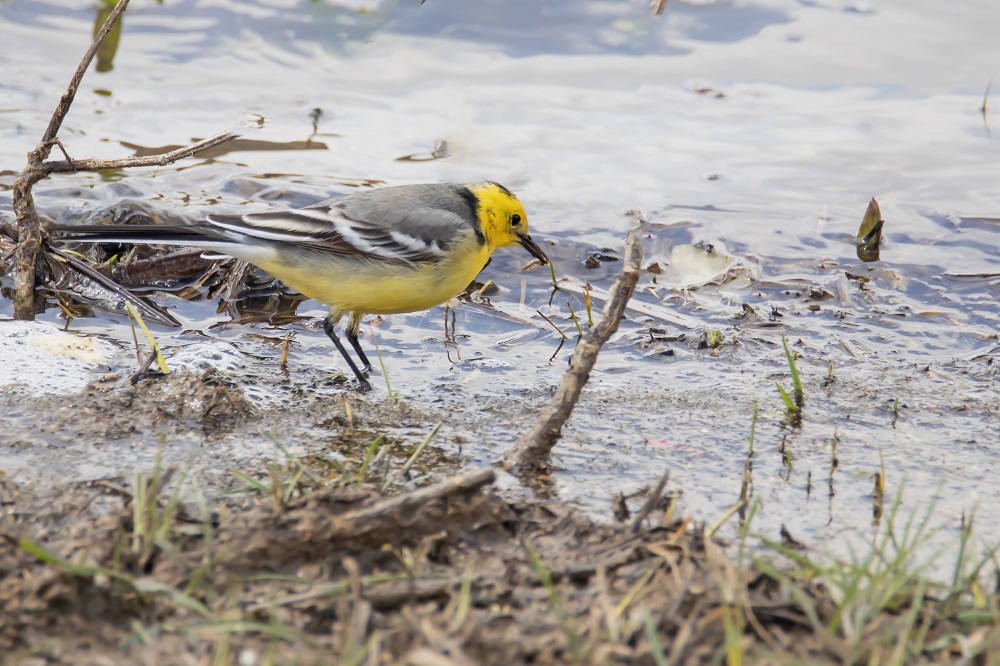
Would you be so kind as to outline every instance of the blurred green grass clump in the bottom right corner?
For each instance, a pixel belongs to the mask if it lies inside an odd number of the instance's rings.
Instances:
[[[813,630],[827,637],[824,642],[840,646],[841,663],[923,663],[921,655],[947,651],[952,641],[964,642],[968,648],[965,656],[975,661],[980,649],[996,646],[1000,636],[995,631],[979,642],[979,648],[973,648],[968,642],[971,636],[965,635],[971,629],[956,628],[929,644],[927,638],[931,622],[943,617],[953,617],[959,623],[978,619],[996,623],[995,609],[978,617],[975,610],[976,604],[985,607],[989,603],[982,594],[981,578],[986,565],[995,564],[996,558],[992,550],[980,558],[972,556],[969,521],[963,524],[950,584],[931,582],[928,571],[943,553],[953,552],[953,545],[928,553],[928,544],[936,534],[929,528],[934,504],[931,502],[921,516],[911,514],[903,520],[901,495],[896,494],[884,526],[864,557],[852,550],[850,561],[842,562],[792,550],[762,537],[765,545],[793,560],[799,571],[781,572],[767,559],[754,559],[754,566],[782,584]],[[802,582],[807,582],[806,588]],[[807,592],[812,586],[829,591],[834,606],[821,613],[816,599]],[[880,639],[888,638],[887,622],[893,622],[891,642]]]

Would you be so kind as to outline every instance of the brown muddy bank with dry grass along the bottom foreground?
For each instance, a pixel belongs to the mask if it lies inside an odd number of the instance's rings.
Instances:
[[[598,525],[504,499],[490,470],[389,497],[363,475],[300,496],[286,472],[224,508],[179,502],[170,470],[64,486],[44,509],[5,480],[4,663],[990,663],[1000,649],[995,592],[973,604],[913,581],[848,619],[842,590],[735,563],[669,497]]]

